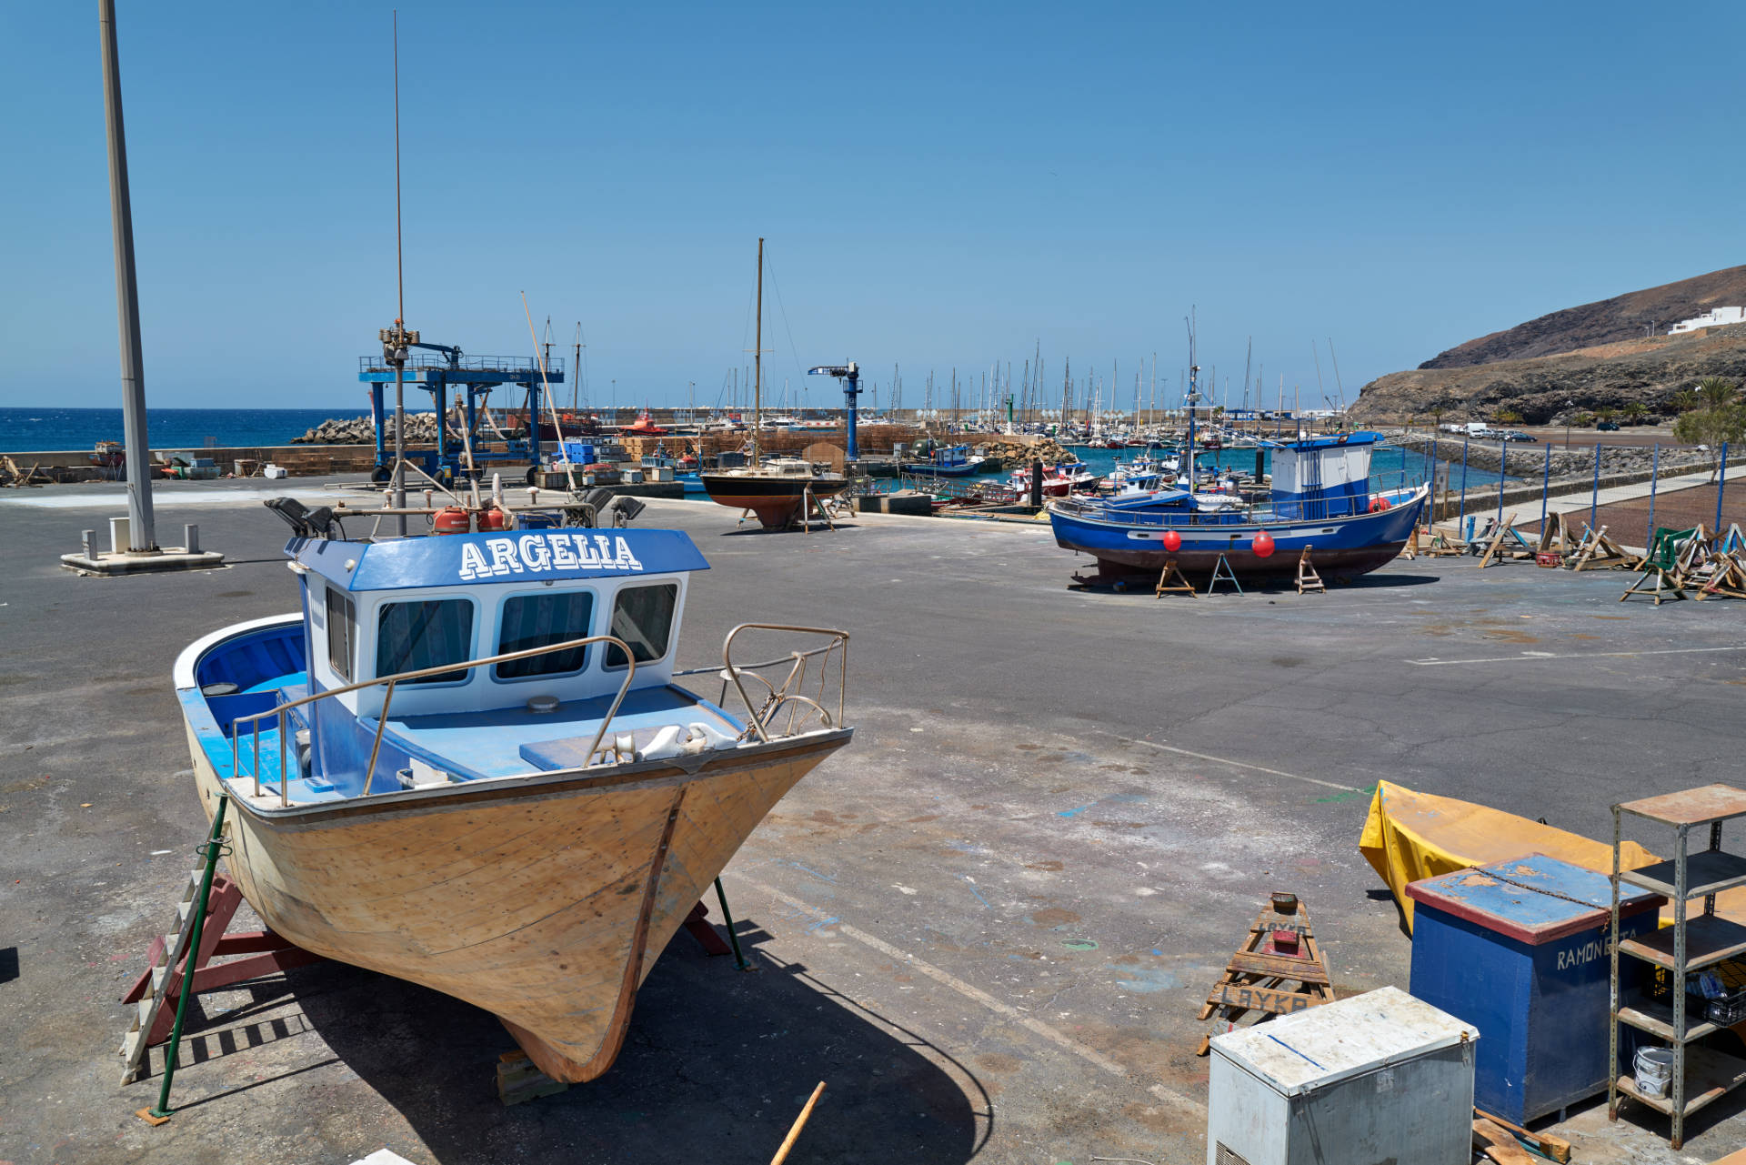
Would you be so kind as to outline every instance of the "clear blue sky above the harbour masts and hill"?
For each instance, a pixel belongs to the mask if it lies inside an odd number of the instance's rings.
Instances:
[[[120,2],[148,398],[356,407],[395,318],[389,5]],[[1037,341],[1119,400],[1245,342],[1348,398],[1743,262],[1746,5],[417,3],[407,323],[604,403],[859,360],[904,403]],[[96,3],[0,9],[0,403],[119,400]],[[777,304],[780,292],[780,304]],[[793,344],[789,342],[793,335]],[[836,403],[833,383],[810,402]]]

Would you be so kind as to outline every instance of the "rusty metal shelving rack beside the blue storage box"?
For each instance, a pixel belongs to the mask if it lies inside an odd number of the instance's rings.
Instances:
[[[1655,821],[1676,831],[1676,849],[1669,861],[1659,861],[1641,870],[1619,868],[1619,845],[1624,816]],[[1729,784],[1706,784],[1681,793],[1664,793],[1636,802],[1613,805],[1613,913],[1612,913],[1612,1018],[1608,1024],[1608,1064],[1613,1065],[1606,1088],[1606,1118],[1619,1120],[1620,1093],[1673,1118],[1671,1148],[1685,1142],[1685,1118],[1720,1099],[1732,1088],[1746,1085],[1746,1060],[1709,1048],[1690,1044],[1715,1032],[1722,1024],[1687,1015],[1685,976],[1702,971],[1723,959],[1746,955],[1746,926],[1716,917],[1716,894],[1746,886],[1746,858],[1723,852],[1722,823],[1746,817],[1746,791]],[[1695,854],[1690,851],[1690,833],[1709,826],[1709,845]],[[1673,926],[1660,927],[1639,938],[1617,940],[1619,934],[1619,882],[1638,886],[1673,901]],[[1687,920],[1687,905],[1704,900],[1702,913]],[[1639,997],[1622,1006],[1619,985],[1619,955],[1631,955],[1667,971],[1669,1001]],[[1634,1074],[1619,1074],[1619,1025],[1666,1039],[1673,1051],[1671,1095],[1650,1097],[1638,1090]]]

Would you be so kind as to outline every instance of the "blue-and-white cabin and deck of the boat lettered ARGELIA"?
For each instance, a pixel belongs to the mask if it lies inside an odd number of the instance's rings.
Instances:
[[[302,583],[300,617],[227,627],[176,662],[176,693],[208,760],[222,777],[258,774],[274,802],[360,796],[367,772],[375,795],[599,763],[590,744],[630,671],[618,645],[466,667],[588,636],[622,639],[636,660],[602,749],[677,756],[733,748],[744,730],[672,683],[690,575],[709,569],[681,531],[293,538],[286,554]],[[447,664],[456,667],[396,683],[386,725],[386,685],[288,711],[283,762],[276,716],[260,721],[258,767],[253,723],[234,725],[313,693]]]

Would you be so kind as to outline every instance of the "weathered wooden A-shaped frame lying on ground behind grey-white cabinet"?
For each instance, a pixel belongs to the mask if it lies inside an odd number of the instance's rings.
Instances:
[[[1334,985],[1310,912],[1296,894],[1275,893],[1212,985],[1198,1018],[1234,1024],[1250,1011],[1290,1015],[1323,1003],[1334,1003]],[[1212,1037],[1203,1036],[1194,1055],[1210,1050]]]

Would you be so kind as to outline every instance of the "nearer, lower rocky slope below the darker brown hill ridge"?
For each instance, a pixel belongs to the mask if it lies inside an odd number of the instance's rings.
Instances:
[[[1566,412],[1624,409],[1633,402],[1671,416],[1673,395],[1706,376],[1746,379],[1746,325],[1531,360],[1390,372],[1360,389],[1351,417],[1369,424],[1411,423],[1442,410],[1454,421],[1486,421],[1498,409],[1510,409],[1528,424],[1559,424]]]

